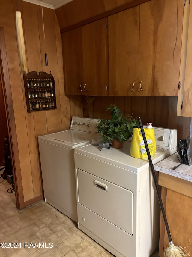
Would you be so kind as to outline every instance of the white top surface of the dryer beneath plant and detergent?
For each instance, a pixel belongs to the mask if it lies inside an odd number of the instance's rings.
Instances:
[[[75,152],[137,173],[140,173],[144,169],[149,168],[148,158],[134,158],[131,156],[130,149],[131,142],[125,141],[124,146],[121,149],[102,149],[100,151],[97,146],[87,144],[75,148]],[[170,151],[162,148],[157,148],[156,153],[152,155],[152,162],[153,164],[156,164],[157,162],[163,160],[164,158],[170,156],[175,152],[176,149]]]

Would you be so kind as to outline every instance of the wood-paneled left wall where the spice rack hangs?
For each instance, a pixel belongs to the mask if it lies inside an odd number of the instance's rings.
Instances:
[[[41,166],[38,151],[38,136],[69,128],[70,99],[64,94],[63,60],[60,27],[55,11],[43,8],[45,40],[41,6],[21,0],[0,0],[0,27],[4,29],[7,63],[9,69],[11,96],[7,104],[13,105],[19,156],[15,157],[18,181],[23,187],[19,196],[20,207],[32,203],[32,199],[42,198]],[[55,79],[57,110],[28,113],[19,67],[16,40],[15,11],[21,11],[28,60],[28,71],[51,71]],[[49,66],[45,66],[45,52]],[[8,91],[5,90],[5,95]],[[11,102],[11,100],[12,102]],[[78,101],[76,101],[78,102]],[[73,105],[73,101],[71,103]],[[11,130],[11,127],[10,127]],[[14,152],[14,149],[13,149]]]

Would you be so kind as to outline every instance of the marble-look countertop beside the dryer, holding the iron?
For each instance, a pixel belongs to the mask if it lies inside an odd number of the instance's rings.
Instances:
[[[163,161],[158,162],[154,168],[155,171],[163,172],[168,175],[192,182],[192,166],[182,164],[176,168],[176,170],[173,169],[174,166],[177,166],[180,163],[181,162],[177,158],[177,153],[175,153]]]

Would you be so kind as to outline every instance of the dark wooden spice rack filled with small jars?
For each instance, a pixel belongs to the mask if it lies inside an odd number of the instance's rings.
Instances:
[[[50,74],[31,71],[23,74],[27,111],[47,111],[57,109],[55,81]]]

